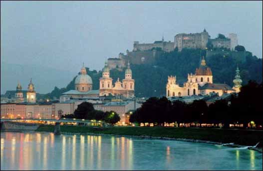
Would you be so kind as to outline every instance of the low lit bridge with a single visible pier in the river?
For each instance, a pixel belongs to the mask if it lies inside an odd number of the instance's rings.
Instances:
[[[12,121],[12,122],[21,122],[21,121],[49,121],[49,122],[55,122],[55,128],[54,128],[54,134],[55,135],[60,135],[60,123],[64,122],[75,122],[75,123],[83,123],[86,125],[91,125],[91,124],[100,124],[104,125],[105,123],[102,121],[96,121],[96,120],[86,120],[86,119],[69,119],[69,118],[60,118],[60,119],[42,119],[42,118],[15,118],[15,119],[0,119],[1,123],[6,122],[6,121]]]

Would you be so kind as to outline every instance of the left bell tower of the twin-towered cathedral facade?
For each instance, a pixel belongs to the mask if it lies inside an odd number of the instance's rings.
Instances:
[[[105,62],[105,66],[102,70],[102,78],[99,79],[99,94],[102,95],[109,95],[112,89],[112,78],[110,78],[110,69]]]

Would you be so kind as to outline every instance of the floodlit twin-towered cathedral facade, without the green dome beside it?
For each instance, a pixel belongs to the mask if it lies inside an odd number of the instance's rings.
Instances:
[[[125,70],[125,79],[122,82],[118,80],[115,86],[112,85],[112,78],[110,78],[110,69],[105,62],[105,67],[102,70],[102,78],[99,79],[99,95],[123,95],[126,98],[134,97],[134,80],[132,79],[132,71],[128,62]]]

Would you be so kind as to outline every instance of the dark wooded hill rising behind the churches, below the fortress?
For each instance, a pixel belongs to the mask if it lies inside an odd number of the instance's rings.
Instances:
[[[200,49],[183,49],[181,52],[175,50],[158,57],[154,65],[131,65],[132,77],[135,79],[135,96],[164,96],[167,77],[176,75],[177,81],[183,83],[186,81],[188,73],[195,73],[203,55],[205,56],[206,52]],[[246,56],[246,61],[242,63],[238,63],[231,55],[224,56],[221,54],[210,56],[209,61],[207,61],[207,65],[213,72],[214,83],[226,83],[230,86],[233,86],[233,79],[238,64],[243,85],[246,85],[249,80],[262,83],[263,61],[256,56],[252,56],[252,53],[249,53]],[[102,72],[89,71],[89,68],[86,68],[86,70],[87,74],[92,78],[93,89],[98,89],[99,78],[102,76]],[[112,69],[110,77],[113,78],[113,83],[115,83],[117,78],[120,78],[120,80],[124,79],[124,72],[125,70]],[[55,87],[49,96],[58,98],[61,93],[74,89],[74,79],[65,88],[59,89]]]

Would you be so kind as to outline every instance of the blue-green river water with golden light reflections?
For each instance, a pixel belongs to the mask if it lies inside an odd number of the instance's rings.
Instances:
[[[1,170],[262,170],[262,154],[183,141],[1,132]]]

